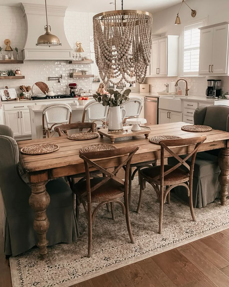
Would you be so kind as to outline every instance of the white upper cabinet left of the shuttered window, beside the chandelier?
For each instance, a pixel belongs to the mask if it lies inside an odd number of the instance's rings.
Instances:
[[[179,36],[169,35],[152,40],[151,72],[152,76],[178,75]]]

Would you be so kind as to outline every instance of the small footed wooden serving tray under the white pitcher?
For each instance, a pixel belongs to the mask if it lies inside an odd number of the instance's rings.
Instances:
[[[99,129],[98,133],[100,137],[106,136],[110,138],[111,143],[115,143],[115,139],[120,137],[127,137],[127,136],[140,136],[145,135],[146,139],[149,137],[150,130],[141,128],[140,131],[131,131],[132,126],[123,127],[124,130],[128,130],[126,134],[123,135],[116,135],[116,134],[109,134],[108,129]]]

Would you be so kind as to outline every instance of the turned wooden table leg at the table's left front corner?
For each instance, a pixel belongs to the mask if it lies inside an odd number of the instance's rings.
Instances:
[[[31,184],[32,193],[29,198],[29,204],[35,212],[33,227],[37,233],[37,246],[41,259],[46,259],[48,254],[46,233],[49,229],[49,219],[46,216],[46,209],[50,203],[49,194],[45,188],[46,182]]]

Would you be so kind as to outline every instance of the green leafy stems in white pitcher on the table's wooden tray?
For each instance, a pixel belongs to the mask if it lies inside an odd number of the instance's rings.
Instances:
[[[126,115],[126,110],[124,108],[120,108],[120,105],[124,101],[129,100],[129,93],[131,89],[127,89],[125,91],[114,91],[109,89],[108,92],[110,95],[100,95],[97,93],[93,95],[93,98],[101,103],[103,106],[109,106],[109,124],[108,130],[109,131],[118,131],[123,130],[123,120]],[[122,111],[122,114],[121,114]]]

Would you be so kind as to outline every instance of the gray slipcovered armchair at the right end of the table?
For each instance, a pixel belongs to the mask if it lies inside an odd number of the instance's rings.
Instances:
[[[229,107],[227,106],[200,106],[194,112],[194,124],[206,125],[213,129],[229,131]],[[202,208],[213,202],[219,194],[220,184],[218,176],[218,154],[220,149],[198,152],[194,164],[193,175],[193,207]],[[185,157],[185,156],[183,156]],[[175,164],[174,158],[168,159],[168,164]],[[190,164],[190,160],[187,161]],[[185,188],[182,186],[173,189],[175,194],[188,202]]]

